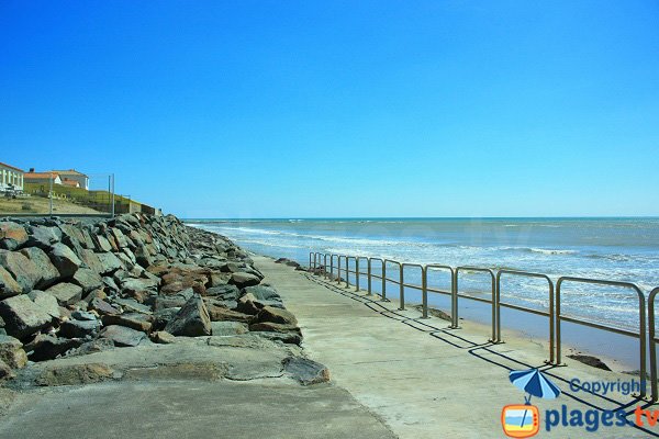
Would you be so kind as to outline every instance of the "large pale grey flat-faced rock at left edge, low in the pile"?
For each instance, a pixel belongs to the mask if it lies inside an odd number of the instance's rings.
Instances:
[[[0,317],[5,323],[7,334],[19,339],[47,327],[53,319],[25,294],[0,302]]]

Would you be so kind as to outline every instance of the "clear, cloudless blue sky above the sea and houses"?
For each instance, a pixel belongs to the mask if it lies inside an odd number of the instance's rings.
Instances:
[[[0,161],[183,217],[659,215],[659,2],[2,0]]]

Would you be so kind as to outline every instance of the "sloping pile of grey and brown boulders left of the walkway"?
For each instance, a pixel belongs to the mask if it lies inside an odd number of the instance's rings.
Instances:
[[[247,331],[300,345],[295,317],[227,238],[175,216],[0,222],[0,380],[29,360]]]

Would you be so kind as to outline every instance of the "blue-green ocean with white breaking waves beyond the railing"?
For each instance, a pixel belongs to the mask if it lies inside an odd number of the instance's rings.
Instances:
[[[538,272],[554,281],[561,275],[632,282],[645,295],[659,286],[659,218],[315,218],[190,219],[225,235],[244,248],[309,264],[309,252],[378,257],[401,262],[471,266]],[[388,275],[398,279],[398,272]],[[393,266],[391,266],[393,270]],[[379,273],[379,267],[373,266]],[[354,282],[354,279],[353,279]],[[420,284],[417,269],[405,282]],[[362,285],[366,282],[362,280]],[[379,282],[373,282],[379,292]],[[428,286],[449,289],[448,275],[428,274]],[[491,295],[482,273],[460,274],[460,292]],[[398,286],[387,293],[398,296]],[[420,302],[406,289],[409,302]],[[546,281],[504,278],[502,300],[547,311]],[[438,294],[429,303],[446,307]],[[448,309],[446,309],[448,311]],[[577,318],[638,330],[638,299],[621,288],[565,284],[561,313]],[[487,313],[480,317],[487,318]]]

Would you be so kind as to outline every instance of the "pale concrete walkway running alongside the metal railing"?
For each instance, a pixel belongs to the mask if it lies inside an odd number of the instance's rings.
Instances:
[[[417,311],[400,312],[395,302],[381,302],[365,291],[337,286],[322,277],[294,271],[271,259],[255,257],[300,322],[304,348],[327,365],[333,382],[378,414],[401,438],[502,438],[502,407],[523,404],[524,393],[509,381],[510,370],[544,367],[547,346],[506,333],[506,342],[488,342],[489,328],[462,323],[459,330],[436,317],[420,319]],[[584,381],[629,381],[634,376],[570,362],[546,371],[561,390],[557,399],[534,399],[540,410],[540,437],[651,437],[630,426],[557,426],[547,431],[545,410],[585,414],[626,407],[634,421],[638,402],[630,396],[595,396],[570,391],[574,378]],[[654,407],[657,408],[657,407]],[[591,415],[594,416],[594,415]],[[585,421],[584,421],[585,423]]]

